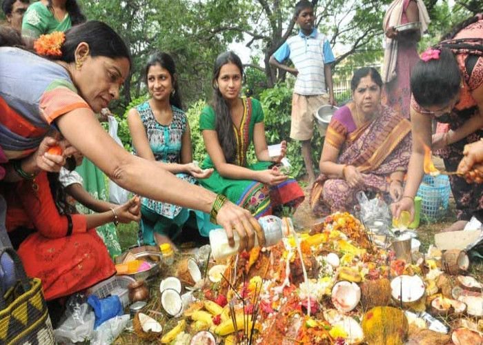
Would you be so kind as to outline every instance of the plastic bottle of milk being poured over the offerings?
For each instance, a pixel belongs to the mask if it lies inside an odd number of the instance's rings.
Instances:
[[[280,219],[274,215],[268,215],[260,217],[258,222],[264,231],[266,247],[277,244],[282,238],[290,235],[293,229],[292,219],[288,217]],[[228,236],[224,229],[219,228],[210,231],[211,255],[213,255],[215,260],[224,259],[238,252],[240,239],[236,230],[233,230],[233,239],[235,240],[235,246],[230,247]],[[255,246],[258,246],[257,236],[255,236]]]

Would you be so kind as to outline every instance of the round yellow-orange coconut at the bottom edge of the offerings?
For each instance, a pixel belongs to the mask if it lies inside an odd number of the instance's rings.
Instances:
[[[408,328],[406,315],[391,306],[376,306],[362,319],[362,330],[368,344],[404,344]]]

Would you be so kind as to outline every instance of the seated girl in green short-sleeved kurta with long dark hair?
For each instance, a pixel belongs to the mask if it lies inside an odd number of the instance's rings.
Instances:
[[[275,166],[285,156],[286,142],[282,141],[279,157],[268,155],[262,106],[256,99],[239,97],[242,77],[242,61],[235,53],[217,57],[213,106],[206,106],[199,119],[208,151],[201,168],[215,168],[215,172],[199,182],[258,218],[272,214],[277,206],[298,206],[304,193],[297,181]],[[246,161],[251,143],[258,159],[255,164]]]

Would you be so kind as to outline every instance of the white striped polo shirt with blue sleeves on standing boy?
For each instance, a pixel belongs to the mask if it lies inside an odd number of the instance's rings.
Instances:
[[[287,39],[273,57],[280,63],[290,59],[299,71],[293,92],[304,96],[327,92],[324,64],[334,62],[335,58],[331,44],[316,28],[308,36],[300,30],[299,34]]]

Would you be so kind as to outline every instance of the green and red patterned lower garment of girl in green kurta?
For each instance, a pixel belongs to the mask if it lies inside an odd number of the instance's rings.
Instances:
[[[251,170],[266,170],[273,164],[260,161],[247,166]],[[296,208],[305,195],[295,179],[287,179],[277,186],[267,186],[259,181],[226,179],[215,170],[208,179],[201,179],[201,186],[214,193],[225,195],[238,206],[249,210],[255,218],[271,215],[279,206]]]

